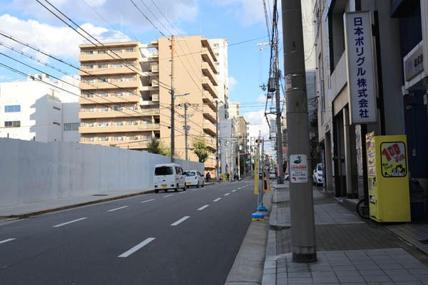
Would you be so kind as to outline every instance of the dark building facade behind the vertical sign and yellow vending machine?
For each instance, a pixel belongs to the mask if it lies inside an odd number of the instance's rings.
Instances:
[[[427,61],[422,71],[407,81],[407,58],[423,50],[427,56],[427,0],[335,1],[318,0],[315,19],[315,63],[320,153],[325,171],[325,189],[333,195],[362,197],[365,134],[407,135],[410,176],[427,189]],[[345,47],[344,14],[370,11],[377,118],[374,123],[350,122],[349,66]],[[412,27],[412,28],[410,28]],[[370,42],[370,36],[367,37]],[[420,46],[424,48],[419,49]],[[413,52],[413,53],[412,53]],[[406,58],[407,56],[407,58]],[[425,103],[426,104],[426,103]],[[416,115],[416,120],[415,116]],[[418,122],[418,123],[416,123]],[[367,186],[366,186],[367,187]]]

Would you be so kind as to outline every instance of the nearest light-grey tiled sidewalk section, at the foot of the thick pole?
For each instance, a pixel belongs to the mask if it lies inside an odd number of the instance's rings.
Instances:
[[[318,252],[318,261],[277,259],[277,284],[428,284],[428,267],[403,249]]]

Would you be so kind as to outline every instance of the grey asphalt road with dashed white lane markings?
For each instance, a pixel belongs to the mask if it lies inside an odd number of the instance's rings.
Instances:
[[[253,182],[141,195],[0,225],[0,284],[224,284]]]

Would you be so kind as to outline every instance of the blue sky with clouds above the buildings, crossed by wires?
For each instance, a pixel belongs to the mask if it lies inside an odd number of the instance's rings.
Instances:
[[[49,6],[44,0],[40,0]],[[241,115],[253,124],[265,124],[263,120],[263,91],[260,84],[267,80],[270,50],[266,47],[258,51],[256,43],[267,42],[267,28],[261,0],[133,0],[146,16],[163,33],[175,31],[165,22],[163,14],[182,34],[195,35],[202,33],[208,38],[228,38],[228,68],[230,77],[230,101],[241,103]],[[156,28],[144,18],[130,0],[49,0],[64,14],[96,38],[128,36],[147,43],[161,37]],[[154,6],[157,4],[158,9]],[[272,0],[267,1],[272,9]],[[155,14],[151,14],[148,8]],[[90,7],[89,7],[90,6]],[[94,11],[95,10],[95,11]],[[99,15],[101,16],[99,16]],[[160,20],[162,24],[159,23]],[[78,64],[78,44],[83,38],[71,28],[50,14],[37,1],[2,0],[0,6],[0,31],[9,33],[26,42],[48,51],[55,56]],[[258,38],[247,43],[239,43]],[[0,42],[13,43],[0,36]],[[16,45],[14,45],[16,46]],[[67,68],[49,58],[33,53],[28,48],[16,46],[22,51],[34,54],[42,61],[48,61],[58,68],[76,74],[76,70]],[[26,60],[24,56],[0,47],[2,53],[38,66],[41,70],[61,77],[61,73]],[[18,66],[16,62],[0,56],[0,63],[18,68],[24,73],[37,73],[30,68]],[[0,81],[10,81],[18,76],[0,68]],[[21,77],[22,78],[22,77]],[[265,127],[264,127],[265,128]]]

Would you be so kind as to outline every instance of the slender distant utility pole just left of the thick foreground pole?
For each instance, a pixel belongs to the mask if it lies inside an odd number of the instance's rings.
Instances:
[[[276,5],[276,4],[275,4]],[[277,125],[277,164],[279,168],[278,175],[280,175],[280,178],[278,179],[279,183],[284,183],[284,159],[282,158],[282,128],[281,128],[281,94],[280,94],[280,63],[278,60],[278,41],[277,38],[275,38],[275,65],[276,65],[276,73],[275,73],[275,87],[276,87],[276,93],[275,93],[275,109],[276,109],[276,125]]]

